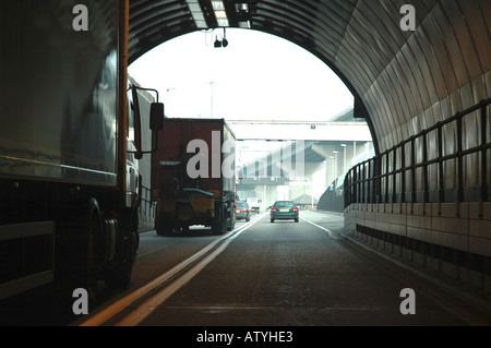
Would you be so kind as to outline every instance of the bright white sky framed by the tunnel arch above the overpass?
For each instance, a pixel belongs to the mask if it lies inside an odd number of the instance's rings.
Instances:
[[[352,107],[338,76],[303,48],[279,37],[227,28],[169,40],[139,58],[129,74],[159,91],[167,117],[328,121]]]

